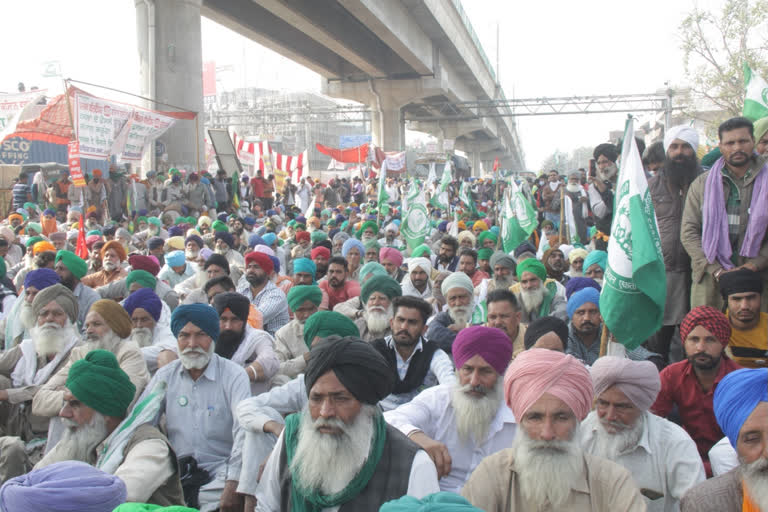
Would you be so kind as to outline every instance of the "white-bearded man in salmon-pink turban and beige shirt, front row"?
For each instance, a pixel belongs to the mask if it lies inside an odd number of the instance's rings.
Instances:
[[[537,348],[518,355],[504,375],[518,433],[511,448],[480,463],[462,495],[482,510],[646,510],[629,471],[581,450],[579,422],[592,397],[589,372],[573,356]]]

